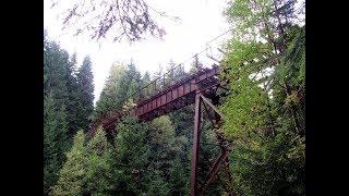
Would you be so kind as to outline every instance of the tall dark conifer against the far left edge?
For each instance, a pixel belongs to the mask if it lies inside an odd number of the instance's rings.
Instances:
[[[72,125],[69,108],[70,59],[55,41],[44,38],[44,171],[47,194],[57,181],[64,152],[70,148],[69,131]],[[55,162],[55,163],[52,163]]]

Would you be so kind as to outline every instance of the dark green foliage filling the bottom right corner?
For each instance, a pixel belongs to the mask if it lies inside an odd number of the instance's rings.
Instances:
[[[230,157],[233,187],[239,195],[304,194],[304,144],[293,133],[239,145]]]

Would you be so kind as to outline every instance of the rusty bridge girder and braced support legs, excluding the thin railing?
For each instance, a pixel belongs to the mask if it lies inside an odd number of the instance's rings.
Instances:
[[[151,121],[155,118],[170,113],[185,106],[193,103],[195,105],[192,147],[191,195],[202,195],[208,187],[208,185],[214,181],[215,176],[217,175],[218,169],[221,166],[225,168],[228,179],[231,179],[228,164],[228,154],[231,148],[231,143],[229,143],[220,133],[220,119],[224,118],[224,115],[215,107],[219,102],[219,96],[216,94],[217,89],[224,84],[219,82],[217,77],[218,74],[219,68],[217,65],[213,65],[212,69],[201,70],[200,72],[172,84],[166,89],[158,91],[151,98],[137,102],[136,106],[129,111],[124,111],[127,113],[130,113],[131,115],[137,117],[142,121]],[[212,164],[210,170],[208,171],[207,176],[204,180],[204,183],[202,185],[198,185],[197,161],[200,155],[200,128],[202,127],[202,106],[204,106],[205,111],[213,122],[214,131],[216,132],[221,154]],[[214,115],[208,112],[208,108],[215,112]],[[122,114],[124,112],[116,111],[108,117],[97,121],[92,126],[91,133],[94,134],[96,128],[100,125],[106,131],[113,131],[116,128],[117,122],[122,118]],[[226,189],[230,195],[232,195],[231,187],[227,187]]]

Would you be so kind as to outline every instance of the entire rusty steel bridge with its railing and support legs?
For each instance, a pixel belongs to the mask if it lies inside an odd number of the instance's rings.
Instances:
[[[219,62],[212,56],[209,58],[215,62]],[[218,65],[214,64],[209,69],[197,69],[195,73],[189,75],[186,74],[186,76],[184,76],[180,81],[171,81],[169,85],[165,85],[166,75],[173,74],[173,72],[178,70],[184,70],[183,64],[179,64],[163,76],[156,78],[152,83],[141,88],[134,95],[131,95],[131,97],[136,97],[136,95],[140,95],[142,91],[152,89],[151,91],[153,91],[153,95],[151,95],[148,98],[136,100],[135,106],[132,106],[129,109],[115,110],[101,117],[98,121],[92,124],[89,133],[94,134],[99,126],[103,126],[106,132],[112,132],[116,130],[117,122],[127,114],[131,114],[133,117],[136,117],[141,121],[146,122],[172,111],[179,110],[185,106],[194,105],[195,115],[193,119],[194,130],[191,160],[191,195],[204,195],[205,191],[207,191],[207,188],[209,187],[209,184],[217,176],[218,170],[220,168],[225,171],[224,173],[226,174],[228,180],[231,181],[228,155],[229,151],[231,151],[232,142],[228,140],[220,130],[221,120],[225,117],[217,109],[219,99],[222,96],[226,96],[229,91],[229,89],[227,88],[228,81],[220,81],[218,78],[218,75],[222,72],[222,70],[220,70]],[[213,130],[216,133],[218,146],[220,147],[220,155],[212,163],[203,183],[198,184],[197,162],[200,155],[200,136],[203,108],[206,111],[208,119],[213,123]],[[226,192],[229,195],[234,195],[232,187],[230,187],[229,185],[226,187]]]

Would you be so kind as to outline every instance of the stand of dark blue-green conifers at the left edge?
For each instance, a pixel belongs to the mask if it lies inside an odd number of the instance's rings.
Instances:
[[[87,130],[93,111],[93,74],[85,59],[76,70],[76,54],[61,49],[44,37],[44,192],[57,182],[57,172],[65,160],[80,128]]]

